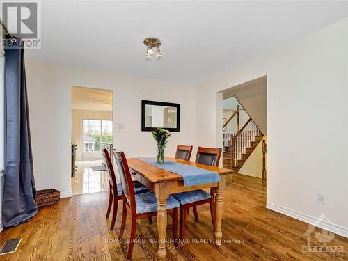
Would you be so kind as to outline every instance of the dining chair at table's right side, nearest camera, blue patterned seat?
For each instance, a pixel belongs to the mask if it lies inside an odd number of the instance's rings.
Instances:
[[[221,148],[198,147],[196,163],[217,167],[219,166],[221,152]],[[189,207],[193,207],[195,219],[198,220],[197,206],[210,203],[210,215],[212,216],[213,228],[215,229],[215,194],[216,189],[212,188],[210,193],[203,189],[198,189],[172,195],[180,202],[180,239],[184,239],[186,215]]]

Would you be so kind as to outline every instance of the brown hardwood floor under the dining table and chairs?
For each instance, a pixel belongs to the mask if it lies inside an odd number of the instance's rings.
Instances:
[[[265,209],[266,188],[260,179],[228,177],[223,198],[223,239],[229,242],[221,247],[209,242],[214,238],[209,205],[198,206],[199,221],[194,220],[193,212],[187,217],[185,237],[191,242],[179,248],[168,243],[168,260],[348,259],[348,239],[338,235],[326,245],[343,246],[342,256],[302,255],[302,246],[306,245],[303,233],[308,224]],[[119,204],[116,228],[110,231],[110,220],[105,219],[107,199],[106,192],[93,193],[41,208],[32,221],[1,232],[0,244],[15,237],[23,239],[16,253],[0,256],[0,260],[125,260],[127,244],[117,242],[122,207]],[[171,239],[171,218],[168,223],[167,238]],[[134,244],[133,260],[155,260],[157,223],[143,219],[137,221],[137,226],[139,242]],[[129,219],[123,238],[128,235]],[[201,239],[207,243],[198,242]],[[314,235],[310,239],[311,244],[322,245]]]

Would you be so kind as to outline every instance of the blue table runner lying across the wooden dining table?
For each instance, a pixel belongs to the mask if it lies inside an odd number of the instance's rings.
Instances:
[[[175,161],[165,161],[164,163],[157,163],[157,157],[140,157],[136,158],[144,161],[152,166],[163,168],[166,171],[171,171],[177,175],[182,176],[184,186],[189,187],[199,184],[210,184],[220,181],[219,174],[213,171],[207,171],[204,168],[182,164]]]

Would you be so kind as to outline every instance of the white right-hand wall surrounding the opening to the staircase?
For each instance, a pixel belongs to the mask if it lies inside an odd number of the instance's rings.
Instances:
[[[324,213],[347,237],[348,18],[198,86],[197,144],[222,145],[217,92],[264,75],[267,207],[306,222]]]

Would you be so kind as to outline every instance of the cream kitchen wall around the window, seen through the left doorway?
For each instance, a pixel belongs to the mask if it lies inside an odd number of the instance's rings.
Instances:
[[[83,152],[84,144],[82,142],[83,123],[82,120],[113,120],[112,111],[84,111],[75,110],[72,111],[72,129],[71,129],[71,141],[77,144],[76,160],[82,159],[102,159],[102,151],[97,152]]]

